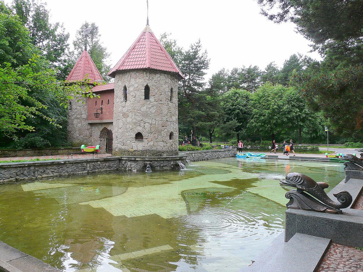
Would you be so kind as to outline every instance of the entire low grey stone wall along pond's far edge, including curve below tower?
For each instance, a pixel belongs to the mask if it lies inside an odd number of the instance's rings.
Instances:
[[[110,171],[176,170],[185,165],[186,160],[204,161],[215,158],[232,157],[236,149],[216,149],[179,153],[168,157],[106,157],[52,161],[27,161],[0,163],[0,184],[43,179],[49,177],[72,176]]]

